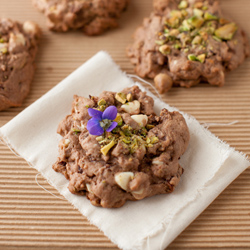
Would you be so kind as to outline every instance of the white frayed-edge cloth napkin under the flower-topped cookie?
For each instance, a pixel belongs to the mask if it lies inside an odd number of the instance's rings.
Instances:
[[[127,202],[118,209],[94,207],[86,197],[71,194],[68,181],[52,169],[52,164],[61,139],[56,129],[70,113],[73,95],[99,95],[103,90],[120,91],[133,84],[107,53],[99,52],[0,128],[0,136],[118,247],[159,250],[170,244],[250,163],[193,117],[183,114],[191,140],[180,160],[185,172],[173,193]],[[162,108],[176,110],[148,94],[155,100],[157,113]]]

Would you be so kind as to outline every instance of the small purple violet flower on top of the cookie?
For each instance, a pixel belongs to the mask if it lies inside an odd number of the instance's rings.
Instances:
[[[113,121],[117,116],[115,106],[109,106],[104,112],[88,108],[88,113],[92,117],[87,124],[87,130],[91,135],[102,135],[104,130],[111,132],[117,126],[117,122]]]

